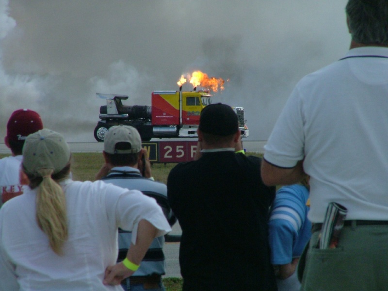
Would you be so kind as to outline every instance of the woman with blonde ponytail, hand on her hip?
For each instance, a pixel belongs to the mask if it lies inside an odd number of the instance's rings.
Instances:
[[[0,291],[122,291],[120,281],[153,239],[171,230],[141,192],[73,181],[70,157],[55,131],[27,137],[22,171],[29,187],[0,209]],[[124,263],[116,263],[118,227],[133,233]]]

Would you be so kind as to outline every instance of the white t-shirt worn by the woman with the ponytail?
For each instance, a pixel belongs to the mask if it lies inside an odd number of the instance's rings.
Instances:
[[[138,223],[146,219],[164,235],[171,228],[160,206],[137,190],[103,181],[61,185],[69,227],[64,256],[51,250],[36,223],[36,189],[26,187],[0,209],[0,290],[19,290],[19,284],[21,291],[122,291],[102,284],[106,267],[116,263],[117,228],[132,230],[134,243]]]

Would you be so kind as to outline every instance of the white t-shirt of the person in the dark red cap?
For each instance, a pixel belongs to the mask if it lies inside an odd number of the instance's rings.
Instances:
[[[19,183],[22,160],[22,155],[0,159],[0,207],[7,200],[23,194],[23,186]]]

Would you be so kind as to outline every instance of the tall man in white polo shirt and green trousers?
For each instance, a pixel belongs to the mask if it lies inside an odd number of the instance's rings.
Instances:
[[[298,82],[264,147],[265,184],[307,173],[315,224],[301,290],[388,285],[388,1],[349,0],[349,52]],[[335,249],[318,249],[330,202],[348,209]]]

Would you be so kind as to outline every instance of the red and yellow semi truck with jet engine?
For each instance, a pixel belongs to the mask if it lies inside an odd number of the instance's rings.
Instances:
[[[106,105],[100,107],[100,120],[94,130],[98,142],[104,141],[108,129],[114,125],[130,125],[136,128],[143,141],[151,138],[197,137],[199,116],[205,106],[211,104],[211,95],[206,91],[155,91],[151,106],[124,105],[126,95],[100,94]],[[242,107],[232,107],[239,118],[243,137],[249,135]]]

